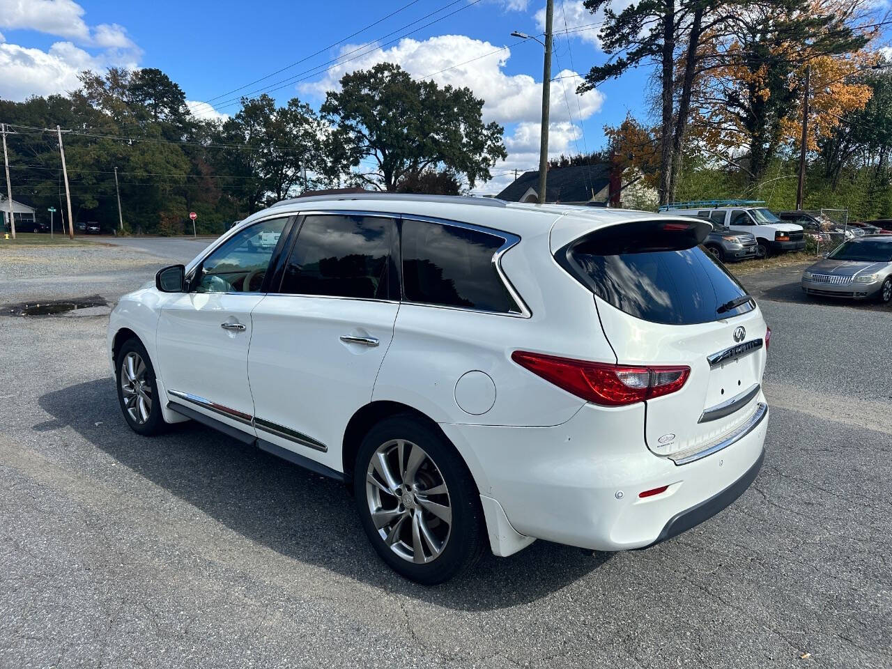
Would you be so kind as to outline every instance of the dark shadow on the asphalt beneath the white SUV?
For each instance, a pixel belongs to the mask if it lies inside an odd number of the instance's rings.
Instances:
[[[111,379],[48,392],[39,404],[53,419],[32,429],[70,426],[236,533],[297,562],[442,607],[489,610],[529,603],[589,574],[611,555],[536,541],[509,558],[487,551],[468,574],[425,588],[403,580],[376,556],[342,483],[191,421],[156,437],[133,434],[120,415]]]

